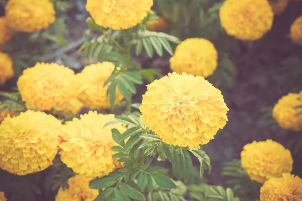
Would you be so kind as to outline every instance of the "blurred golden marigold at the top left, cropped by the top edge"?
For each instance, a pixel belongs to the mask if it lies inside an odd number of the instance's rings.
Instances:
[[[55,20],[55,11],[49,0],[9,0],[5,17],[16,31],[33,33],[47,29]]]

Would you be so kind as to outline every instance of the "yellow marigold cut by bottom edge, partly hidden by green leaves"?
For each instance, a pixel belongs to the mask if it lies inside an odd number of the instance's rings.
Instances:
[[[99,195],[99,190],[89,187],[92,179],[83,175],[70,177],[67,181],[69,188],[60,187],[55,201],[93,201]]]

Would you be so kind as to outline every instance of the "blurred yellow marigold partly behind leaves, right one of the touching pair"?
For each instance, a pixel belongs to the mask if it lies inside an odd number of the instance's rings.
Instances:
[[[107,89],[110,83],[105,87],[104,83],[113,70],[114,64],[105,61],[86,66],[81,73],[76,75],[79,88],[78,99],[85,107],[92,109],[110,108],[109,98],[107,97]],[[120,103],[123,98],[123,95],[116,88],[115,104]]]

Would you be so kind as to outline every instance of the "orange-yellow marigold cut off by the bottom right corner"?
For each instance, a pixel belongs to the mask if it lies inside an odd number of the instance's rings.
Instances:
[[[301,201],[302,179],[289,173],[271,178],[260,188],[260,201]]]

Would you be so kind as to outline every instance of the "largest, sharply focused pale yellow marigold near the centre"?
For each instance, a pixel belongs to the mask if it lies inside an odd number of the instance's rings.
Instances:
[[[139,110],[142,122],[165,143],[194,149],[214,139],[229,108],[204,77],[173,72],[147,85]]]

